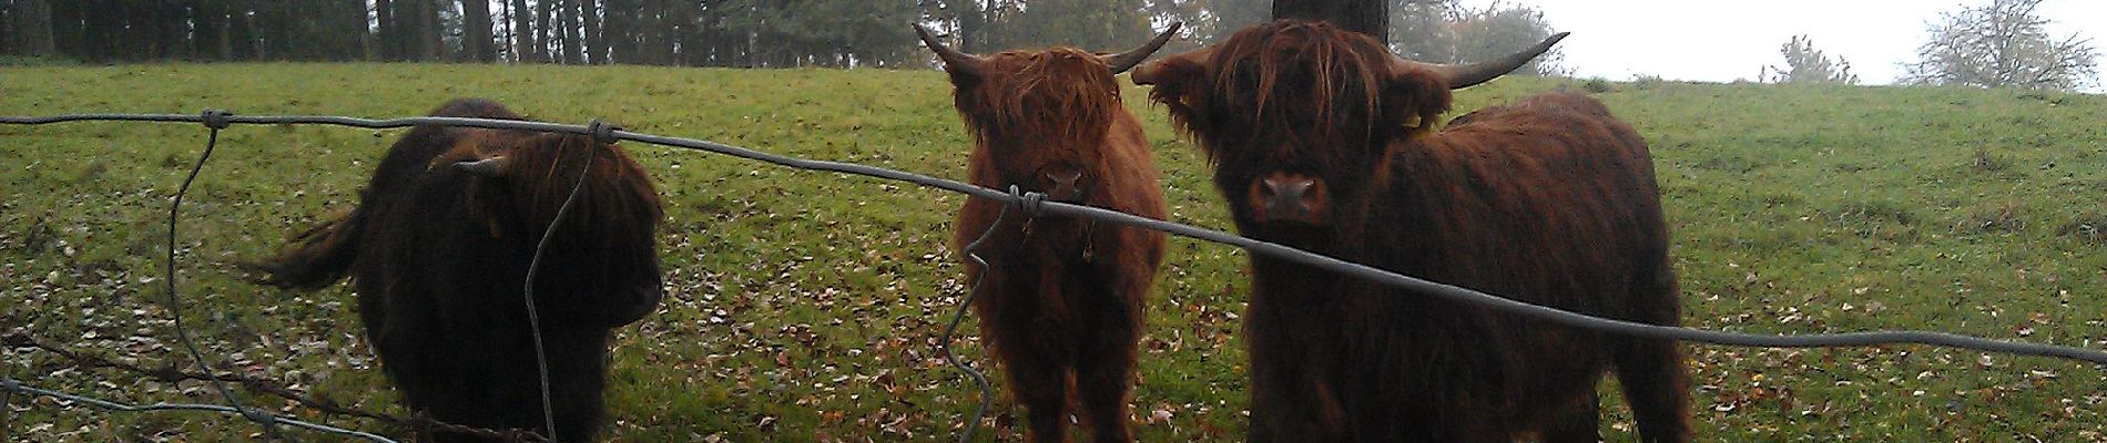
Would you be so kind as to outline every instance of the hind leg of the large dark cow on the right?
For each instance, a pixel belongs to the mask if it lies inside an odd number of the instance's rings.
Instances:
[[[1639,422],[1639,441],[1690,441],[1690,395],[1683,351],[1675,340],[1624,338],[1610,355],[1624,401]]]

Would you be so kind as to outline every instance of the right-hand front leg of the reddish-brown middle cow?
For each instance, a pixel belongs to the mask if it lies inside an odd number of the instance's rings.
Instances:
[[[1077,397],[1083,403],[1083,424],[1100,443],[1134,441],[1127,416],[1127,395],[1134,391],[1134,346],[1140,328],[1134,313],[1104,311],[1096,328],[1083,332],[1087,338],[1077,346],[1075,370]]]

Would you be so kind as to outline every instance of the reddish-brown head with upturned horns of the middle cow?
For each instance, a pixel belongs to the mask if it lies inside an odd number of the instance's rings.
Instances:
[[[1049,48],[982,57],[944,46],[923,25],[914,31],[944,61],[959,115],[978,141],[973,185],[1018,185],[1060,202],[1087,202],[1102,189],[1100,147],[1123,111],[1112,76],[1163,48],[1178,25],[1119,55]]]

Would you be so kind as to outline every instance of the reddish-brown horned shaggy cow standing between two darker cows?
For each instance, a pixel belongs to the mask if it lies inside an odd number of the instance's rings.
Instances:
[[[1169,40],[1163,31],[1123,55],[1075,48],[978,57],[946,48],[917,25],[944,59],[959,115],[973,130],[973,185],[1041,191],[1049,199],[1163,218],[1163,191],[1142,124],[1119,103],[1112,78]],[[986,271],[967,269],[986,294],[973,300],[980,334],[1009,374],[1032,441],[1066,441],[1070,391],[1098,441],[1134,441],[1127,393],[1142,304],[1163,262],[1163,233],[1091,220],[1009,214],[1003,202],[967,199],[952,246],[978,250]]]

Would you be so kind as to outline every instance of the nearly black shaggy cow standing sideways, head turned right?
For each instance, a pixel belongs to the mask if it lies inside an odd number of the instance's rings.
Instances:
[[[432,115],[520,118],[478,99]],[[255,267],[306,290],[352,273],[367,340],[413,412],[548,435],[523,286],[586,155],[596,157],[541,256],[535,307],[554,437],[592,441],[611,330],[662,296],[657,191],[622,149],[579,134],[417,126],[388,149],[358,208]]]

